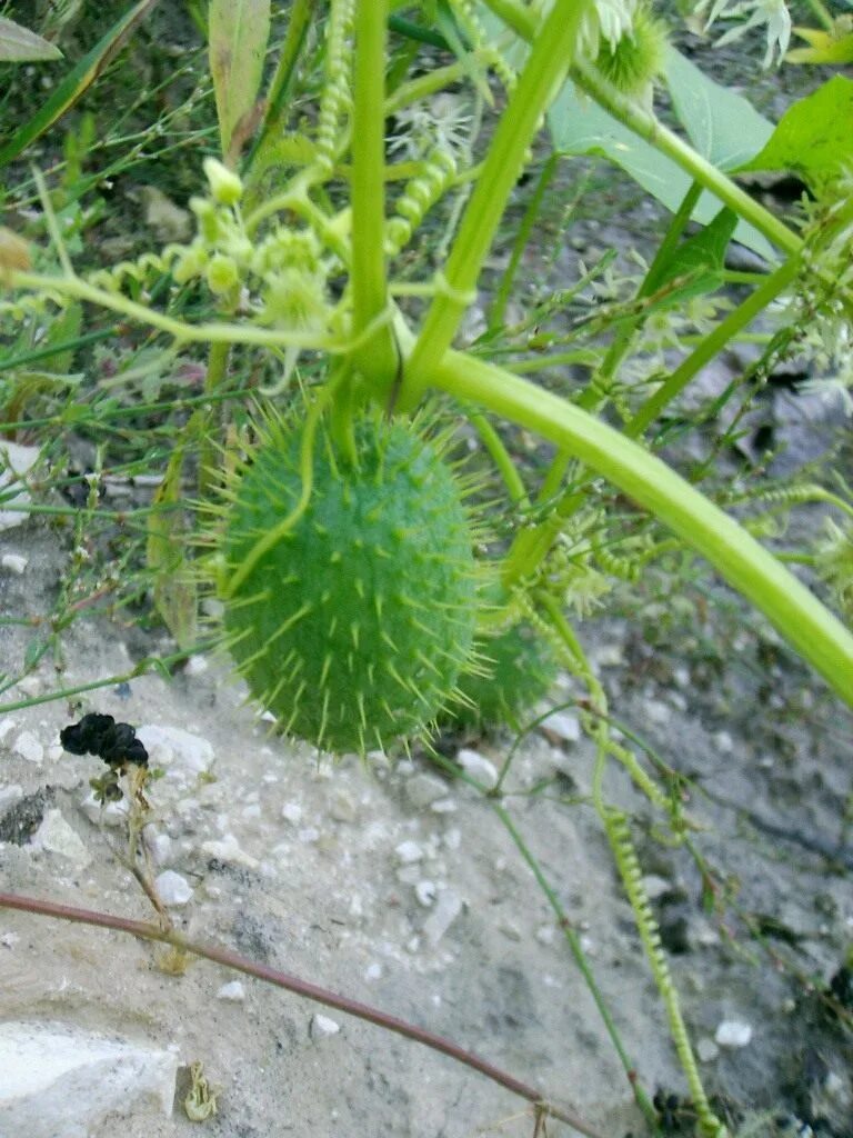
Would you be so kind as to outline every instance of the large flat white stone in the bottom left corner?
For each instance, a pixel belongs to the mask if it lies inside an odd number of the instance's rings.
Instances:
[[[86,1138],[110,1113],[172,1116],[177,1055],[64,1023],[0,1023],[0,1135]]]

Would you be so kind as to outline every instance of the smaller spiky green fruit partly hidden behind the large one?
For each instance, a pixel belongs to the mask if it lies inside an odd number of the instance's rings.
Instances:
[[[557,665],[547,641],[527,624],[515,624],[478,640],[483,668],[459,681],[462,699],[450,719],[463,726],[517,728],[527,712],[548,694]]]

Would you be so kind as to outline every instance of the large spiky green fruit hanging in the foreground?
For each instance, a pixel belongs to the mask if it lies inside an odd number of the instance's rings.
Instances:
[[[307,506],[282,528],[303,430],[270,424],[234,489],[227,642],[287,732],[363,752],[423,733],[453,698],[477,619],[471,521],[440,445],[373,415],[356,424],[355,464],[320,430]]]

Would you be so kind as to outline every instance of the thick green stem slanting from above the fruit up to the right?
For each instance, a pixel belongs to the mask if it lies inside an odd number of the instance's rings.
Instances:
[[[430,382],[430,364],[449,346],[472,299],[506,203],[543,115],[574,53],[582,0],[557,0],[536,39],[527,66],[502,115],[459,232],[439,280],[406,376],[404,399],[413,406]]]

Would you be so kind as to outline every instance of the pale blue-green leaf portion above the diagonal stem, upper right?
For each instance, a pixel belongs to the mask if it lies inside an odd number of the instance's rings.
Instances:
[[[773,133],[773,124],[751,102],[714,83],[674,48],[666,50],[665,79],[694,149],[718,170],[735,170],[748,162]]]

